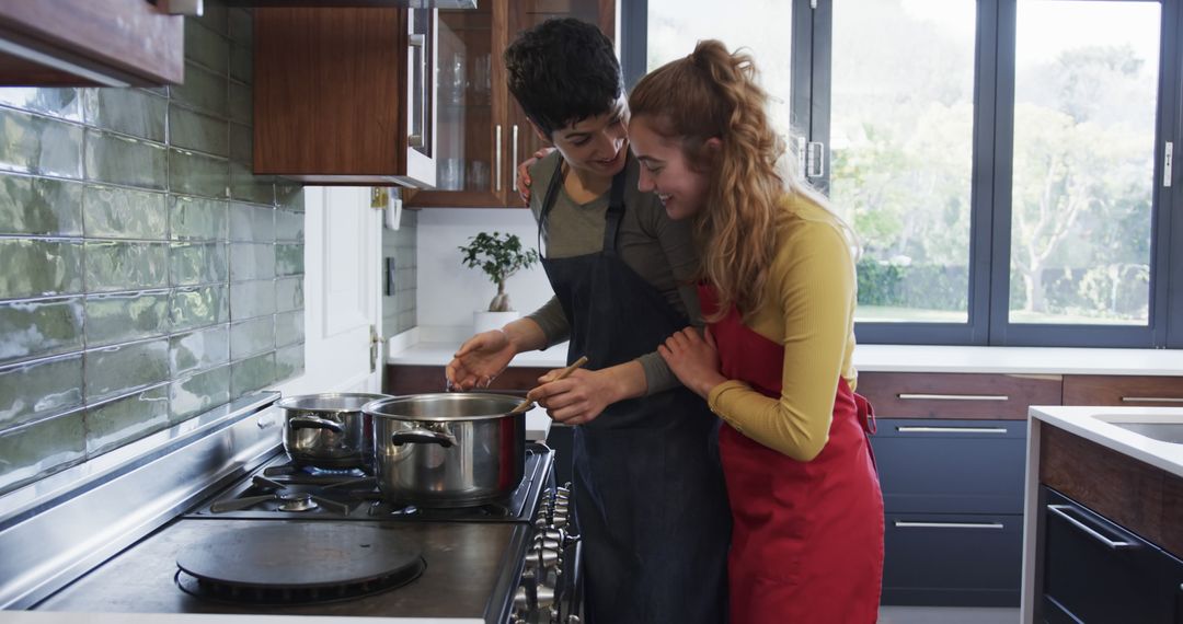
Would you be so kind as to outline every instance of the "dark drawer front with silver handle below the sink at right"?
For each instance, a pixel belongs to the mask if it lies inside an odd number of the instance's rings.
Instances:
[[[1035,622],[1183,624],[1183,561],[1046,486],[1040,501]]]

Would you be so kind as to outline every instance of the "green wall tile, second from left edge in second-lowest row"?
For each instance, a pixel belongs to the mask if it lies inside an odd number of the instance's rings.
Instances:
[[[88,403],[163,382],[168,379],[168,338],[86,351],[83,377]]]

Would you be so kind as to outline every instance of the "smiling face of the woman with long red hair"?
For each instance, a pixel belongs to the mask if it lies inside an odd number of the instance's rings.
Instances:
[[[657,193],[670,219],[693,216],[706,204],[710,177],[691,167],[679,141],[659,135],[651,122],[642,116],[628,124],[633,154],[641,163],[638,189]]]

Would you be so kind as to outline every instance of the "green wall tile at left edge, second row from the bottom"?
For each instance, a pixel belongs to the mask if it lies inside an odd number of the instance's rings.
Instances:
[[[0,368],[0,428],[80,405],[82,385],[82,353]]]

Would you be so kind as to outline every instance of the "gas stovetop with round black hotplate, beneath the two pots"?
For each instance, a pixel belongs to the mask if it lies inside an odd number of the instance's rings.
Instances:
[[[504,501],[434,509],[383,500],[361,472],[293,468],[279,453],[33,609],[510,622],[522,612],[515,592],[525,584],[534,600],[544,576],[531,568],[545,570],[552,463],[552,450],[529,444]]]

